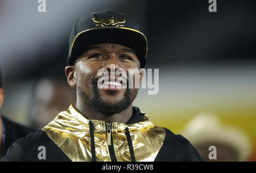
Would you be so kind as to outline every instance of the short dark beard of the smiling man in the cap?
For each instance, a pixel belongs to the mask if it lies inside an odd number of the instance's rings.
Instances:
[[[111,115],[114,115],[115,113],[120,113],[122,111],[125,111],[125,109],[127,109],[130,106],[130,104],[133,103],[133,100],[136,98],[138,94],[138,90],[129,89],[128,87],[125,89],[123,99],[119,100],[119,102],[115,104],[110,104],[108,101],[104,101],[100,96],[100,91],[97,85],[99,78],[94,78],[92,80],[92,86],[93,86],[92,99],[89,99],[85,91],[83,91],[81,87],[77,86],[78,94],[86,102],[88,102],[92,108],[96,109],[98,112],[106,116],[111,116]],[[129,81],[127,82],[127,86],[129,86]],[[107,91],[107,92],[108,94],[115,95],[116,91]]]

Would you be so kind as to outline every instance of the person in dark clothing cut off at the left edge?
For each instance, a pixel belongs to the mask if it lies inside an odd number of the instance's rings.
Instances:
[[[0,69],[0,109],[2,107],[3,99],[5,98],[5,91],[2,86],[2,76]],[[18,138],[26,137],[28,133],[35,132],[34,129],[27,126],[15,123],[7,119],[0,113],[0,158],[6,154],[7,149]]]

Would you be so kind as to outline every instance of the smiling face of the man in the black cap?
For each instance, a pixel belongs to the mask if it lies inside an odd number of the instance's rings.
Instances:
[[[139,69],[140,63],[135,52],[121,44],[101,43],[92,45],[75,62],[75,81],[77,94],[98,112],[113,115],[125,110],[135,99],[137,88],[98,88],[97,82],[102,75],[98,70],[106,69],[110,75],[110,65],[115,70],[122,68],[129,76],[129,69]],[[119,77],[112,74],[115,80]],[[139,75],[141,82],[141,75]],[[109,77],[110,81],[110,77]],[[129,80],[127,81],[127,85]]]

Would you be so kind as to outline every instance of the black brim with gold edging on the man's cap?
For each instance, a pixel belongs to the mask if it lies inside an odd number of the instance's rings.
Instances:
[[[125,27],[92,28],[78,33],[69,51],[68,65],[73,65],[76,58],[93,44],[118,43],[134,50],[141,62],[146,64],[147,38],[143,33]]]

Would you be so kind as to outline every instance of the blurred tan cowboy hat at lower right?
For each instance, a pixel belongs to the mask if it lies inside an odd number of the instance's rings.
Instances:
[[[224,144],[237,151],[237,161],[247,161],[251,154],[251,142],[245,132],[221,123],[213,113],[199,113],[180,132],[193,146]]]

